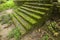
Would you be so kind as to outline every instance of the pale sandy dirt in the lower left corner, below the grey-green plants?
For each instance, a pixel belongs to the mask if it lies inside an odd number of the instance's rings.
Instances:
[[[14,25],[11,25],[10,27],[8,27],[8,28],[5,28],[4,29],[4,27],[6,27],[6,25],[7,24],[5,24],[5,25],[0,25],[1,27],[1,31],[0,31],[0,35],[1,35],[1,40],[7,40],[7,36],[8,36],[8,34],[9,34],[9,32],[14,28]]]

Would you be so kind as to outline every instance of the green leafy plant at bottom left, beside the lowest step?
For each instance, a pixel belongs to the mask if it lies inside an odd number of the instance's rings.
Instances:
[[[20,29],[19,27],[15,27],[13,29],[13,31],[11,31],[8,35],[8,38],[15,38],[15,40],[19,40],[20,39],[20,35],[21,35],[21,32],[20,32]]]

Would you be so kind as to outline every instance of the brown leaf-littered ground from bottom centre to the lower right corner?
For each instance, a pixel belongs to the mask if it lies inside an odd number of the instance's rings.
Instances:
[[[58,22],[56,25],[60,25],[60,22]],[[60,26],[58,26],[58,28],[60,30]],[[46,25],[44,25],[42,26],[42,28],[38,28],[37,30],[34,30],[33,32],[22,37],[21,40],[60,40],[60,31],[57,34],[55,33],[50,34],[50,33],[51,32],[48,31]]]

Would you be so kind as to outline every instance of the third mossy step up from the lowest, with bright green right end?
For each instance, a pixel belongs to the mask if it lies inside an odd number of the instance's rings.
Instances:
[[[31,24],[37,23],[36,20],[34,20],[33,18],[29,17],[28,15],[26,15],[26,14],[24,14],[24,13],[22,13],[22,12],[19,12],[18,9],[15,10],[15,12],[16,12],[19,16],[21,16],[22,18],[24,18],[26,21],[30,22]]]

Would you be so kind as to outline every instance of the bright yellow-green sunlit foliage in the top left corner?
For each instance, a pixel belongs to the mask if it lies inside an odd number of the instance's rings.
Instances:
[[[0,4],[0,11],[11,9],[15,6],[13,1],[7,1],[6,3]]]

